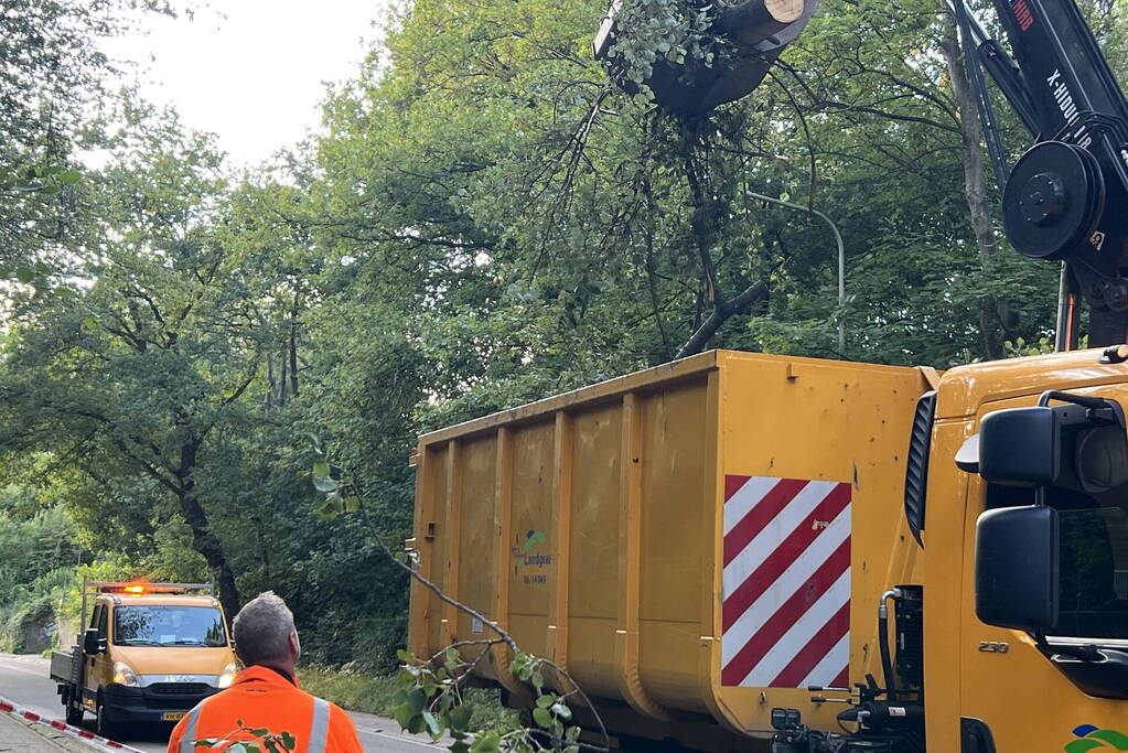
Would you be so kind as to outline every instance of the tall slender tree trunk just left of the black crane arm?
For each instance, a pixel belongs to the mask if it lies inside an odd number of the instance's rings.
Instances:
[[[943,34],[940,48],[952,80],[952,94],[960,119],[963,196],[971,214],[971,230],[979,249],[980,265],[987,274],[990,274],[994,268],[992,257],[997,250],[998,239],[995,236],[990,203],[987,200],[979,110],[976,107],[971,83],[968,81],[967,69],[963,67],[955,18],[946,8],[941,12],[941,26]],[[982,298],[979,305],[979,328],[984,353],[988,358],[1003,357],[1003,338],[1012,324],[1011,319],[1011,308],[1006,300],[995,295]]]

